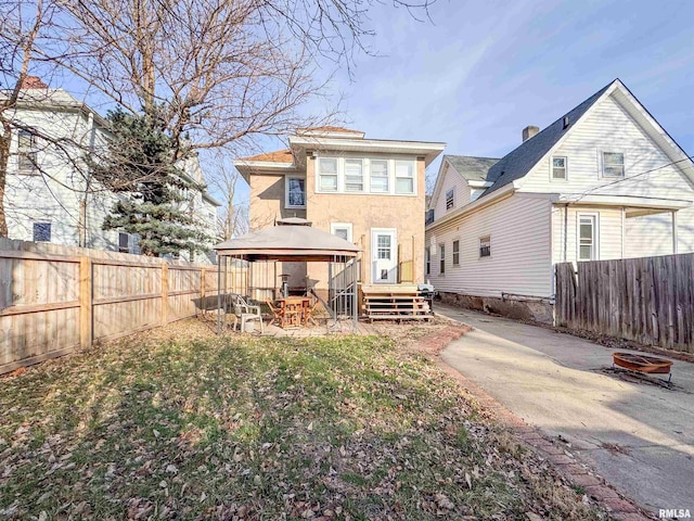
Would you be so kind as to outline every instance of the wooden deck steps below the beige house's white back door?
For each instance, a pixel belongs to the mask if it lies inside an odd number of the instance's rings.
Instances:
[[[428,320],[432,309],[416,284],[363,284],[362,316],[369,320]]]

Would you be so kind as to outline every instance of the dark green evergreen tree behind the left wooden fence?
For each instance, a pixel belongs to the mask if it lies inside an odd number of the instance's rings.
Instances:
[[[144,255],[207,251],[211,238],[181,204],[187,192],[202,187],[182,176],[177,164],[185,156],[175,157],[172,139],[149,115],[116,110],[107,119],[112,136],[105,156],[90,163],[94,178],[124,198],[103,229],[137,233]]]

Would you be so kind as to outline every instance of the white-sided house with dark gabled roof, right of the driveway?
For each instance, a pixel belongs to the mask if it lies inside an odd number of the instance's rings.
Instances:
[[[425,256],[445,298],[500,310],[551,298],[556,263],[694,252],[694,164],[619,79],[523,139],[444,156]]]

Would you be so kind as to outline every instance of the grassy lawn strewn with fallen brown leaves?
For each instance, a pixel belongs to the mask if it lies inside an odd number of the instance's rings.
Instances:
[[[0,380],[0,517],[602,517],[391,336],[188,320]]]

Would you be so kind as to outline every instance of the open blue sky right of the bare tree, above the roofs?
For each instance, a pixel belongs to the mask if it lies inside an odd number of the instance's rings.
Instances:
[[[351,80],[333,82],[347,126],[501,157],[524,127],[544,128],[618,77],[694,153],[694,1],[438,0],[430,17],[374,8],[381,55],[358,55]]]

